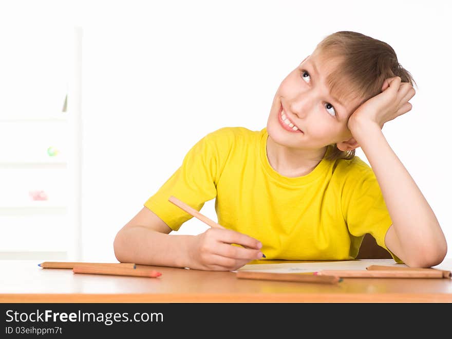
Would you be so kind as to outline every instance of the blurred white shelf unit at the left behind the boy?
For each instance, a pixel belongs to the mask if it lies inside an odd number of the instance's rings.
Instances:
[[[79,260],[82,29],[15,33],[5,49],[40,52],[0,63],[0,259]]]

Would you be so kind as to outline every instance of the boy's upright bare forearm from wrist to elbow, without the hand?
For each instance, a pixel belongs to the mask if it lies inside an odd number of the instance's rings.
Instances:
[[[423,253],[441,253],[445,238],[435,213],[389,146],[378,124],[355,125],[351,132],[380,185],[393,228],[403,248],[405,258],[401,259],[417,261],[421,260],[417,256]]]

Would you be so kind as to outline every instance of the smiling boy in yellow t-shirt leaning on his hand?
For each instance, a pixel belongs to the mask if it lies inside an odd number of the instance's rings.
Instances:
[[[214,271],[262,253],[352,260],[369,233],[397,262],[439,264],[447,245],[438,220],[382,133],[411,110],[412,82],[388,44],[329,35],[279,85],[266,128],[225,127],[193,146],[118,232],[117,259]],[[216,198],[225,229],[169,235],[192,218],[171,195],[198,211]]]

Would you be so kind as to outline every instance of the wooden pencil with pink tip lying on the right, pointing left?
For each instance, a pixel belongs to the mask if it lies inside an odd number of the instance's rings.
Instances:
[[[314,272],[316,275],[333,275],[341,278],[442,278],[440,271],[417,272],[417,271],[346,271],[346,270],[324,270]]]

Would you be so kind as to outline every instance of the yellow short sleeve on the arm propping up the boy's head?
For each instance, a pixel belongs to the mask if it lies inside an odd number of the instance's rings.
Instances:
[[[350,234],[362,238],[369,233],[394,260],[402,262],[385,244],[386,232],[392,220],[375,174],[370,167],[363,166],[354,175],[354,185],[344,189],[348,197],[344,204],[344,215]]]

